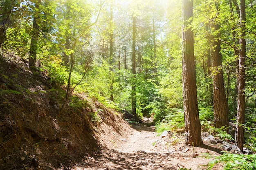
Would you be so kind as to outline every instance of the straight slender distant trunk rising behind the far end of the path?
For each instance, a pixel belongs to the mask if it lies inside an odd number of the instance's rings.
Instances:
[[[136,85],[135,85],[135,77],[136,77],[136,53],[135,53],[135,45],[136,45],[136,17],[132,17],[132,114],[137,117],[136,114]]]

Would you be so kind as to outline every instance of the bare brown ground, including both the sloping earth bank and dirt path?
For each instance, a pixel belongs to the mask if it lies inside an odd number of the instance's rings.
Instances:
[[[18,56],[0,57],[0,170],[202,170],[220,155],[218,145],[186,147],[183,132],[159,136],[152,118],[128,124],[85,93],[59,112],[63,94]]]

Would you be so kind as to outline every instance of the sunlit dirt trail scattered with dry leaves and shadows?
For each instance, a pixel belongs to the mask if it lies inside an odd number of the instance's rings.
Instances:
[[[203,170],[213,158],[220,155],[204,148],[184,147],[180,134],[168,132],[161,137],[155,132],[152,124],[132,124],[130,133],[119,139],[113,148],[96,157],[87,157],[77,164],[74,170]],[[213,170],[220,170],[215,167]]]

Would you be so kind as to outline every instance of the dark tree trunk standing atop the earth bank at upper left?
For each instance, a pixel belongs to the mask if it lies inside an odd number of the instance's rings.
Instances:
[[[41,4],[41,0],[36,0],[35,9],[39,9],[39,4]],[[36,52],[37,52],[37,42],[39,38],[39,26],[36,23],[38,20],[38,15],[34,15],[33,19],[33,28],[31,32],[31,44],[29,50],[29,68],[35,70],[36,68]]]

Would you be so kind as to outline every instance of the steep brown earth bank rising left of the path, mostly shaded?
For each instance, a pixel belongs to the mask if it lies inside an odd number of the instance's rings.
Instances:
[[[86,94],[74,93],[59,112],[64,94],[65,87],[45,73],[33,75],[18,56],[0,57],[1,170],[69,166],[129,131],[119,113]]]

